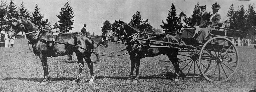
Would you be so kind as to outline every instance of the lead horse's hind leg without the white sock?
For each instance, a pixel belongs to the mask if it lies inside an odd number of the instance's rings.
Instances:
[[[84,68],[84,59],[83,59],[82,53],[81,52],[76,52],[76,56],[77,56],[77,61],[78,61],[79,73],[76,76],[76,79],[72,81],[72,84],[78,83],[79,78],[80,78],[81,73],[82,73],[83,68]]]

